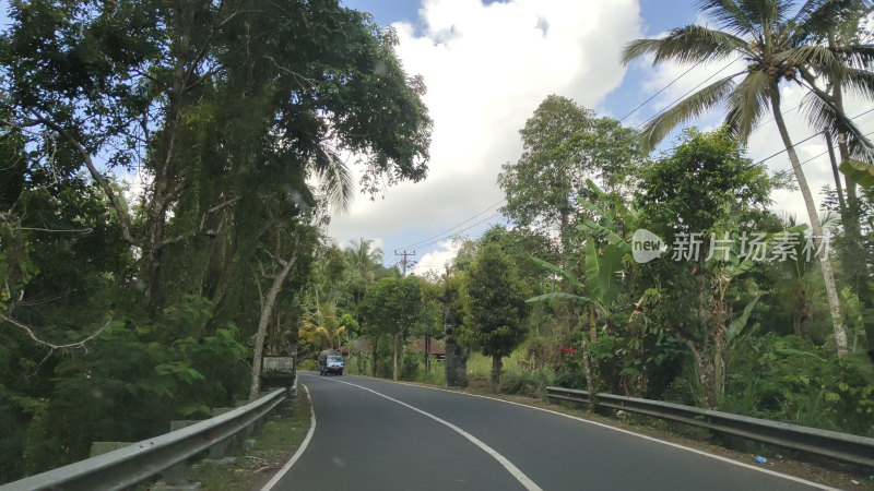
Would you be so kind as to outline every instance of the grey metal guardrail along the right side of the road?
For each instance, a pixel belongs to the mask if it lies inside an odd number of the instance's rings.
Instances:
[[[574,388],[546,387],[546,397],[590,404],[588,391]],[[865,436],[613,394],[598,394],[598,406],[693,424],[874,468],[874,439]]]

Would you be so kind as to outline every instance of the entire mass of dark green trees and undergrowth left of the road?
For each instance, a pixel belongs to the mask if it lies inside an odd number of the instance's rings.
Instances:
[[[229,405],[259,328],[287,351],[320,301],[356,333],[357,303],[395,272],[318,232],[353,196],[340,154],[362,157],[371,195],[427,175],[424,83],[369,14],[104,7],[14,1],[0,33],[0,314],[55,345],[113,320],[55,350],[0,321],[2,481]],[[116,177],[133,169],[139,194]]]

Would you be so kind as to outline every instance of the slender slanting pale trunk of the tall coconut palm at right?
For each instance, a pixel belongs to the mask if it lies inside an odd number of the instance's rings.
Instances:
[[[789,131],[786,128],[783,115],[780,112],[780,93],[776,82],[772,86],[771,106],[773,109],[773,119],[777,121],[777,128],[780,130],[780,137],[783,140],[783,145],[786,145],[787,153],[789,154],[789,160],[792,164],[792,170],[795,173],[795,180],[801,190],[801,195],[804,197],[804,205],[807,208],[811,228],[815,237],[822,238],[823,224],[819,221],[819,214],[816,212],[816,203],[813,200],[811,188],[807,185],[807,178],[804,176],[804,170],[801,168],[795,147],[792,145],[792,140],[789,137]],[[835,346],[838,356],[843,356],[847,354],[847,332],[843,328],[838,289],[835,286],[835,275],[831,272],[831,260],[829,260],[826,254],[819,258],[819,267],[823,270],[823,278],[826,284],[826,296],[828,298],[828,308],[831,313],[831,325],[835,332]]]

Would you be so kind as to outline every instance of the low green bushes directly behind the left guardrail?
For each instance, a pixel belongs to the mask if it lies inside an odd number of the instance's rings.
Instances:
[[[4,476],[44,471],[87,457],[92,441],[139,441],[166,432],[170,419],[233,405],[248,388],[250,350],[236,326],[204,328],[204,316],[209,306],[189,299],[155,323],[114,321],[88,352],[43,368],[52,372],[45,397],[11,395],[12,406],[0,404],[0,418],[28,419],[9,427],[9,443],[22,440],[3,448],[3,460],[24,467]],[[170,326],[179,339],[167,340]]]

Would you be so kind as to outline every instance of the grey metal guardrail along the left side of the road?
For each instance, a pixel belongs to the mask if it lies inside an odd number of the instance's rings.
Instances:
[[[189,427],[9,484],[19,490],[116,490],[142,482],[258,423],[297,391],[279,388],[245,406]]]

